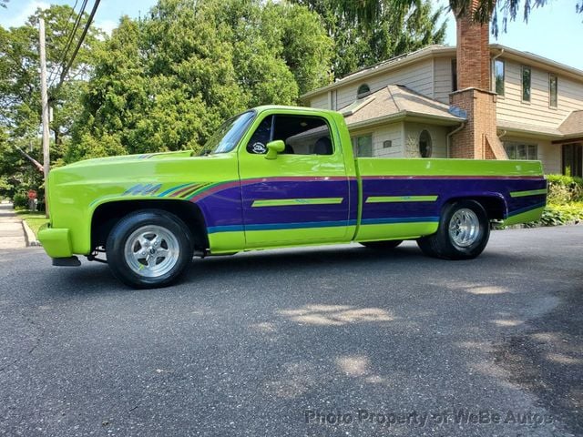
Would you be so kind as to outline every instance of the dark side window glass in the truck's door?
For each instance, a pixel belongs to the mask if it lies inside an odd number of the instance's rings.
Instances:
[[[267,143],[281,139],[283,154],[332,155],[330,128],[323,118],[302,116],[268,116],[257,127],[247,143],[252,154],[267,153]]]

